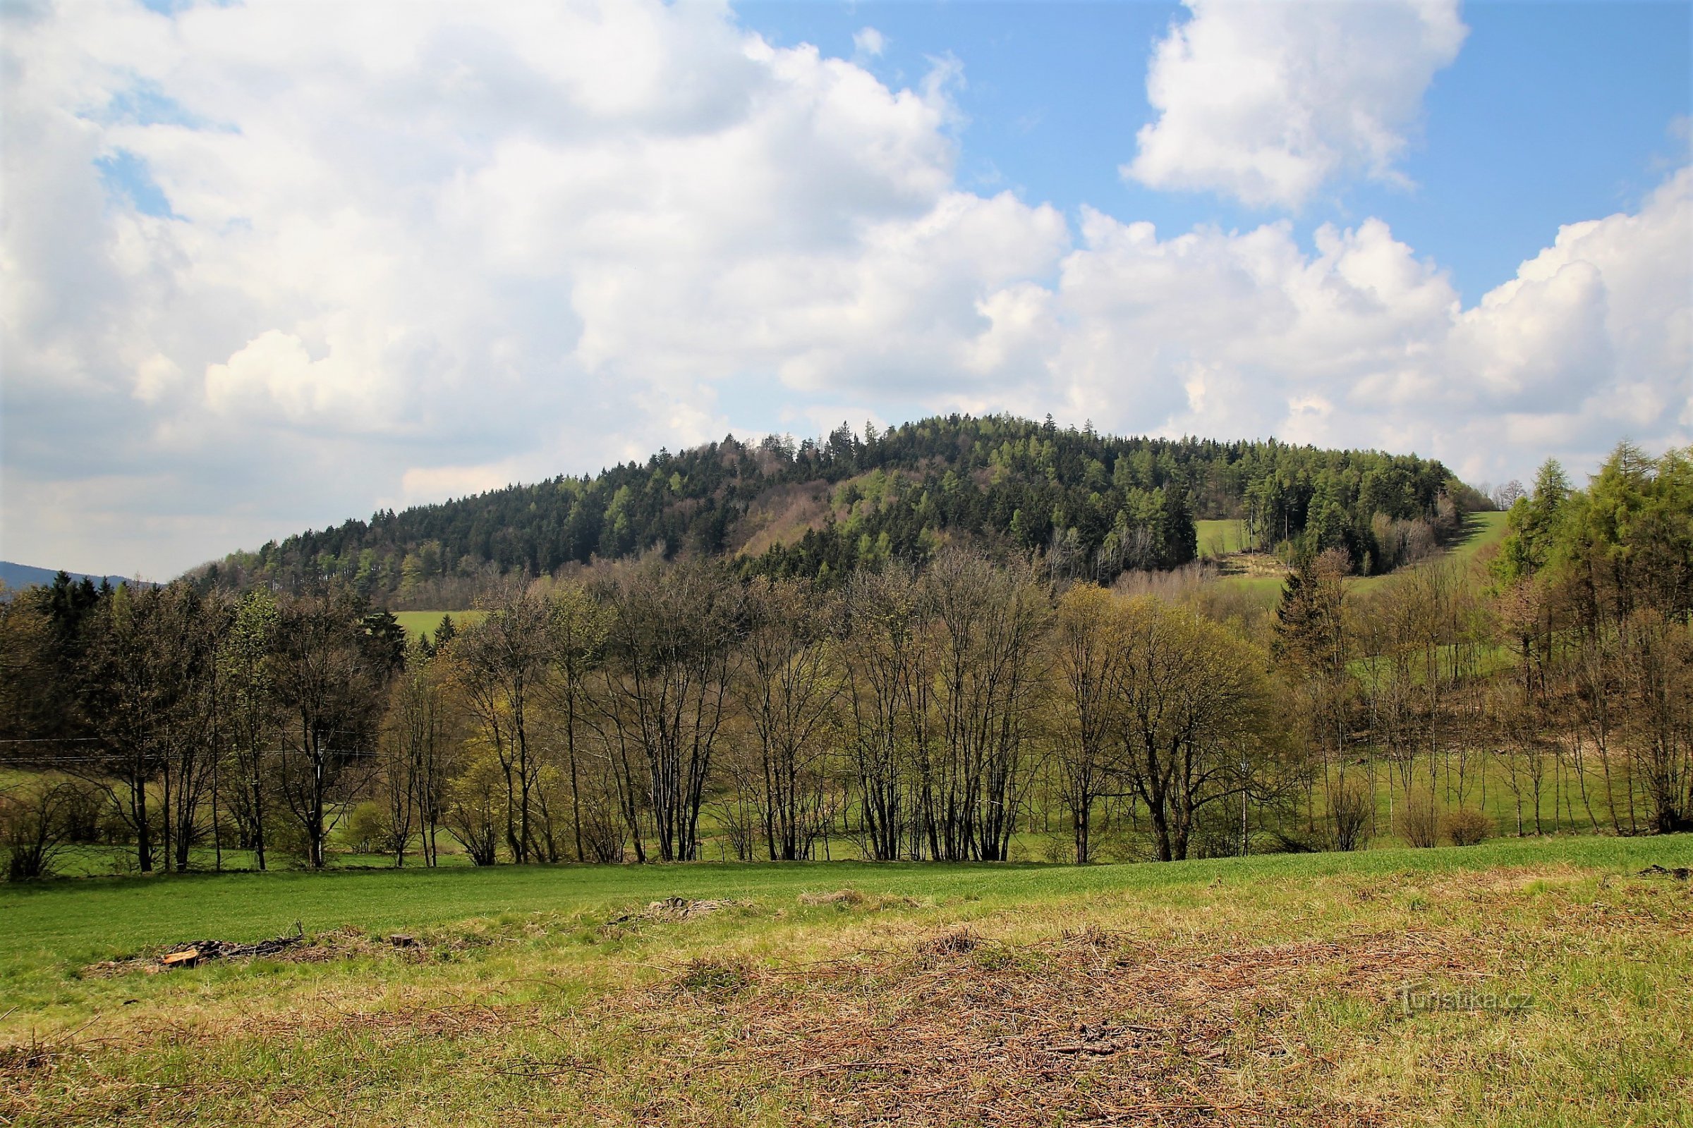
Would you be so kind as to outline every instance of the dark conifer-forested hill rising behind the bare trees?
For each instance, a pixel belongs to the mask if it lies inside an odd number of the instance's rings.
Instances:
[[[369,521],[301,533],[203,565],[208,585],[284,589],[340,578],[379,602],[462,597],[493,573],[550,573],[594,556],[733,556],[745,572],[838,575],[921,560],[943,539],[1043,550],[1111,580],[1195,555],[1194,521],[1238,517],[1260,550],[1344,548],[1383,572],[1456,507],[1486,501],[1415,455],[1116,438],[1011,416],[946,416],[863,436],[733,436]]]

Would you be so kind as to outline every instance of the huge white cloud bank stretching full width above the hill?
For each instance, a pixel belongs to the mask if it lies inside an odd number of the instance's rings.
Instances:
[[[731,428],[919,411],[1480,477],[1693,428],[1688,172],[1464,309],[1380,220],[1304,245],[963,191],[957,64],[892,88],[723,7],[3,19],[12,560],[164,577]]]

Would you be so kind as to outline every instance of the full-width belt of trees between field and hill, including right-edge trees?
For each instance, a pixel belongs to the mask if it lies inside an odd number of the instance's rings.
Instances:
[[[1690,516],[1685,453],[1620,448],[1588,490],[1549,465],[1490,572],[1359,592],[1331,548],[1273,612],[1197,568],[1104,589],[943,548],[823,583],[653,553],[406,644],[345,585],[66,578],[0,611],[0,829],[17,876],[64,841],[322,866],[335,827],[396,864],[1681,830]]]

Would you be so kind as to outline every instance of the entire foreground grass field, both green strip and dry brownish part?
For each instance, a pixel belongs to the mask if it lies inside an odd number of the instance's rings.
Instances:
[[[1693,888],[1639,871],[1690,862],[1693,835],[5,888],[0,1123],[1685,1125]],[[151,974],[296,920],[279,957]]]

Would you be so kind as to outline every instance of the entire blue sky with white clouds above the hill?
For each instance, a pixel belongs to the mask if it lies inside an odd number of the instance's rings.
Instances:
[[[0,3],[0,558],[950,411],[1693,443],[1693,5]]]

